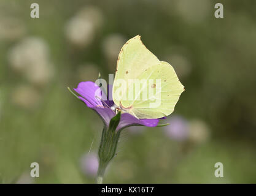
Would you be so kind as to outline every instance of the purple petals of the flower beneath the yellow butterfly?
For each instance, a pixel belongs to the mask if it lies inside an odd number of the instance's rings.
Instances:
[[[78,98],[85,102],[87,107],[98,113],[103,119],[104,124],[108,127],[111,119],[116,115],[115,111],[112,110],[115,104],[112,100],[104,100],[106,95],[101,91],[101,88],[92,81],[82,81],[74,91],[80,94]],[[138,119],[129,113],[122,113],[116,130],[118,131],[130,126],[155,127],[158,122],[159,119]]]

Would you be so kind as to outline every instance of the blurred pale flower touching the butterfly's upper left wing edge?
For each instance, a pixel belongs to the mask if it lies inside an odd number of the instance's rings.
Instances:
[[[117,58],[126,39],[121,34],[111,34],[103,40],[103,53],[107,58],[109,68],[114,71]]]

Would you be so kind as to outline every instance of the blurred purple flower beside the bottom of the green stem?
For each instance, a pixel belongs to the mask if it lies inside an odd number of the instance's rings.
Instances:
[[[99,161],[95,153],[85,154],[80,159],[80,167],[83,174],[95,177],[97,175]]]

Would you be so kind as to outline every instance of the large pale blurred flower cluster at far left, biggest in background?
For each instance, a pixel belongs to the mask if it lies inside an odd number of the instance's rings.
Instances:
[[[10,66],[37,85],[48,83],[53,75],[48,45],[38,37],[28,37],[17,43],[8,55]]]

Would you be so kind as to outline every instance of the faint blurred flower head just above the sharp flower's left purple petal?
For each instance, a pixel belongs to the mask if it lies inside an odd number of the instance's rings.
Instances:
[[[79,81],[96,81],[99,76],[99,69],[96,64],[87,62],[82,64],[77,69]]]

